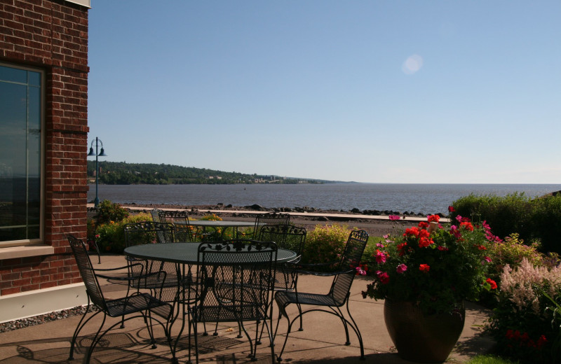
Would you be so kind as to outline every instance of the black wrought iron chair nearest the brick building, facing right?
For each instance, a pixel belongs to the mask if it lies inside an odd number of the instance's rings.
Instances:
[[[84,363],[89,363],[90,358],[92,356],[93,350],[95,346],[99,344],[102,337],[109,332],[112,328],[116,325],[119,325],[122,321],[128,321],[132,318],[142,317],[144,318],[144,322],[147,323],[147,330],[150,336],[150,341],[152,347],[156,347],[156,342],[154,340],[154,330],[152,329],[152,320],[158,322],[162,325],[165,331],[165,337],[168,339],[168,344],[170,345],[170,349],[172,349],[171,345],[171,337],[170,332],[168,330],[168,321],[172,317],[172,307],[170,304],[162,302],[158,300],[158,298],[150,295],[149,293],[140,293],[140,291],[136,290],[135,293],[129,294],[125,297],[116,298],[113,300],[108,300],[104,297],[102,288],[100,286],[99,281],[97,280],[98,277],[105,278],[105,279],[119,279],[121,281],[127,282],[130,287],[133,286],[140,286],[138,281],[151,279],[152,276],[155,275],[162,275],[165,273],[154,273],[154,274],[145,274],[145,272],[140,272],[140,274],[133,274],[130,270],[130,265],[126,267],[118,267],[118,268],[111,268],[111,269],[93,269],[92,262],[86,251],[86,245],[83,244],[83,241],[80,239],[76,239],[72,235],[68,236],[68,241],[70,247],[72,248],[72,253],[74,253],[74,258],[76,258],[76,264],[78,265],[78,269],[80,271],[81,277],[83,279],[83,283],[86,286],[86,293],[88,295],[88,310],[82,316],[81,320],[79,321],[78,325],[76,326],[76,330],[74,330],[74,335],[72,336],[72,342],[70,344],[70,354],[69,360],[74,359],[74,348],[76,346],[76,339],[82,328],[88,323],[94,316],[97,314],[102,313],[103,319],[100,325],[100,328],[95,333],[95,337],[93,337],[90,347],[86,353],[86,356],[83,359]],[[104,275],[98,274],[98,272],[111,272],[111,271],[118,271],[122,269],[128,269],[127,276],[112,276],[112,275]],[[157,279],[159,281],[164,281],[164,279]],[[90,309],[90,303],[95,304],[97,307],[97,311],[93,313],[88,319],[84,320],[88,315],[88,311]],[[156,314],[157,316],[161,317],[161,319],[154,318],[152,314]],[[109,326],[109,328],[105,329],[102,332],[102,328],[104,326],[105,320],[109,317],[122,317],[122,320],[114,323],[113,325]],[[175,358],[175,353],[172,351],[172,354]]]

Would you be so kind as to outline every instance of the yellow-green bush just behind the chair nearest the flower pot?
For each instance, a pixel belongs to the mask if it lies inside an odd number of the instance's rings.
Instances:
[[[302,262],[310,264],[339,260],[350,233],[346,225],[316,225],[306,235]]]

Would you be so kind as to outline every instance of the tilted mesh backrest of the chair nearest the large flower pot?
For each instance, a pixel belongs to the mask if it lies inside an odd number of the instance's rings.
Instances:
[[[331,285],[330,295],[339,304],[344,304],[351,285],[356,275],[355,268],[360,264],[360,259],[363,256],[366,243],[368,241],[368,234],[364,230],[354,230],[349,234],[349,239],[346,241],[345,250],[339,262],[339,272]]]

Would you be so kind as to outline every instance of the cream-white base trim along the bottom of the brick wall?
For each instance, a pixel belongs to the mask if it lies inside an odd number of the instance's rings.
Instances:
[[[0,323],[88,304],[83,283],[67,284],[0,297]]]

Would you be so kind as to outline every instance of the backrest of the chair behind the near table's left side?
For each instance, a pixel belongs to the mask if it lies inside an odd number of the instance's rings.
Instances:
[[[123,227],[125,246],[152,243],[173,243],[175,241],[173,224],[139,221]]]

